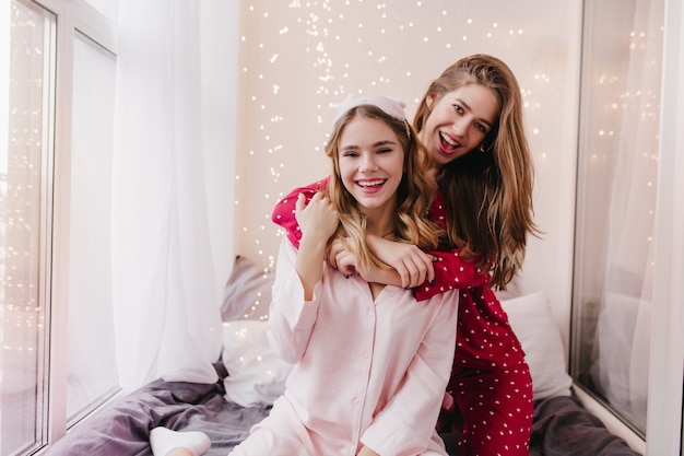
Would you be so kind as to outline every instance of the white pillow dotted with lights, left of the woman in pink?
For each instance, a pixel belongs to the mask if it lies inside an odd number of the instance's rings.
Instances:
[[[260,320],[223,324],[226,400],[243,407],[269,406],[283,394],[292,364],[282,361],[271,348],[268,326],[268,321]]]

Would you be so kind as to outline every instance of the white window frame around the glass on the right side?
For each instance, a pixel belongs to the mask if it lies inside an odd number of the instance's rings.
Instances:
[[[587,0],[585,0],[585,4]],[[587,409],[603,421],[609,431],[625,439],[642,454],[674,455],[684,449],[684,8],[664,1],[662,54],[659,190],[654,229],[652,316],[650,335],[648,411],[646,440],[614,414],[592,393],[575,383],[575,390]],[[587,31],[583,32],[586,34]],[[581,104],[580,104],[581,106]],[[582,115],[580,109],[580,116]],[[581,176],[577,182],[582,191]],[[580,194],[578,194],[580,195]],[[579,199],[579,198],[578,198]],[[576,223],[582,214],[576,212]],[[575,260],[578,260],[576,253]],[[579,279],[574,278],[577,282]],[[577,288],[577,283],[575,283]],[[575,326],[575,315],[570,324]],[[577,328],[571,328],[570,361],[579,350]],[[684,366],[683,366],[684,367]],[[650,436],[650,439],[649,439]]]

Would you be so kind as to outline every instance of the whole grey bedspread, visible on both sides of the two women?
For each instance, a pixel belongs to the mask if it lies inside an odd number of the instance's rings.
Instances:
[[[158,425],[205,432],[212,441],[208,455],[225,456],[246,437],[251,424],[268,414],[268,408],[239,407],[226,401],[224,393],[222,382],[213,385],[152,382],[76,426],[47,456],[151,456],[149,433]],[[449,443],[449,436],[446,441]],[[638,453],[609,433],[577,399],[562,396],[535,402],[530,455]]]

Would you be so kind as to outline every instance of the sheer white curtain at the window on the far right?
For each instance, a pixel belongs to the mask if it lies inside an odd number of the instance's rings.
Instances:
[[[593,381],[617,411],[645,430],[663,1],[637,0],[635,7],[613,182],[606,185],[604,294]]]

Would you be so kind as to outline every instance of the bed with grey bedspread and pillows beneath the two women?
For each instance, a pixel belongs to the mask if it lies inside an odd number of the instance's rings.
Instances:
[[[266,314],[272,277],[236,259],[222,307],[224,351],[214,384],[154,381],[119,398],[72,429],[48,456],[151,456],[155,426],[202,431],[209,456],[225,456],[264,418],[290,366],[269,350]],[[582,408],[565,371],[559,332],[544,293],[502,296],[526,351],[534,383],[530,455],[638,455]],[[455,436],[445,436],[449,443]]]

